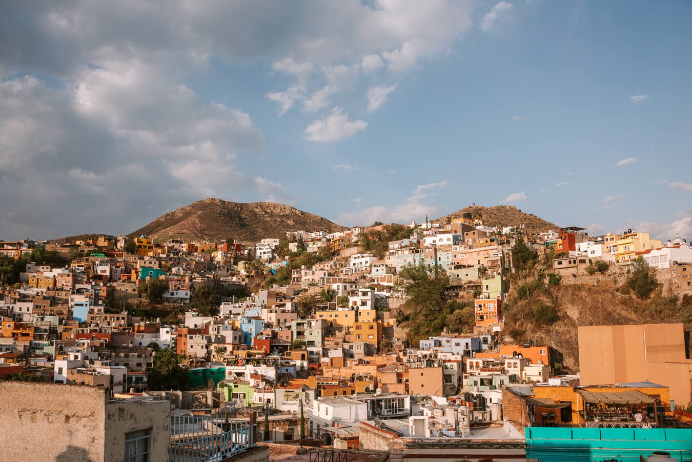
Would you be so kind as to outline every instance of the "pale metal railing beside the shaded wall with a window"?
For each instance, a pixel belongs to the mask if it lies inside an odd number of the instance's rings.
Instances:
[[[171,416],[169,462],[220,461],[255,446],[255,425],[247,420]]]

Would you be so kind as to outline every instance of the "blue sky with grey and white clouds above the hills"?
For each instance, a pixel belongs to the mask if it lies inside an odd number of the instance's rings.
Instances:
[[[205,197],[692,239],[692,2],[0,1],[0,238]]]

